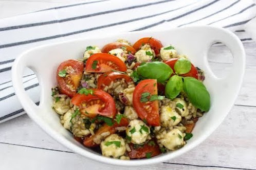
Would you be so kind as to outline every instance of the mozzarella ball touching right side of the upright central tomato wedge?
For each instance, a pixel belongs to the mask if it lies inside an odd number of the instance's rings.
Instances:
[[[169,105],[162,106],[160,112],[160,122],[162,127],[171,127],[181,121],[181,116]]]

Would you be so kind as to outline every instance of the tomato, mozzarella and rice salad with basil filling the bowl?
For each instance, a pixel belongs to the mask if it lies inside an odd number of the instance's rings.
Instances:
[[[193,137],[210,109],[204,78],[172,45],[119,39],[60,63],[52,108],[85,147],[116,159],[148,159]]]

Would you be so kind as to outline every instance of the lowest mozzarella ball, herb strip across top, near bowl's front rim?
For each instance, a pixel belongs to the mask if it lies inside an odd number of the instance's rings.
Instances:
[[[124,155],[126,146],[124,139],[117,134],[109,135],[100,144],[103,156],[117,158]]]

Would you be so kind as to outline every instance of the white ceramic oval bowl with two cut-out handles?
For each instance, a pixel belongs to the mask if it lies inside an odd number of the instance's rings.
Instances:
[[[129,161],[103,157],[77,142],[72,134],[63,128],[59,116],[51,109],[51,88],[56,86],[57,67],[64,60],[81,58],[85,47],[89,45],[97,45],[101,48],[118,38],[134,43],[139,38],[151,36],[161,40],[163,45],[172,44],[179,53],[186,54],[195,66],[205,71],[204,83],[211,95],[211,109],[196,123],[193,138],[177,151],[151,159]],[[231,71],[223,79],[213,74],[207,60],[209,47],[214,42],[223,42],[233,55]],[[39,106],[35,105],[23,88],[22,73],[26,67],[32,69],[39,79],[41,86]],[[167,161],[190,151],[195,146],[200,147],[199,144],[221,124],[232,108],[242,84],[244,69],[245,52],[239,38],[225,29],[198,26],[154,32],[129,32],[111,37],[71,40],[37,47],[16,58],[12,66],[12,82],[16,95],[27,114],[52,138],[89,159],[114,165],[134,166]]]

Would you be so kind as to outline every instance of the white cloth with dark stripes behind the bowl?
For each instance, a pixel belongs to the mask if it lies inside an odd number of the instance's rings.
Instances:
[[[192,25],[227,28],[245,42],[252,39],[244,25],[255,16],[251,0],[90,0],[1,19],[0,122],[25,113],[12,87],[11,66],[29,48],[72,38]],[[27,70],[23,77],[27,93],[39,103],[36,76]]]

